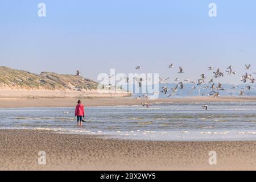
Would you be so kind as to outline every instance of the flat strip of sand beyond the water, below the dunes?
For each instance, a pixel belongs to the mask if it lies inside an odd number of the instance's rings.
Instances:
[[[140,105],[143,102],[148,104],[155,103],[179,103],[179,102],[256,102],[254,96],[229,97],[183,97],[183,98],[158,98],[157,100],[148,100],[141,98],[134,100],[132,97],[104,97],[104,98],[0,98],[0,108],[10,107],[74,107],[78,99],[82,100],[85,107],[89,106],[132,106]]]

